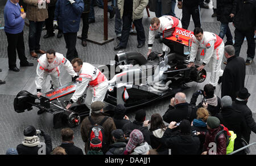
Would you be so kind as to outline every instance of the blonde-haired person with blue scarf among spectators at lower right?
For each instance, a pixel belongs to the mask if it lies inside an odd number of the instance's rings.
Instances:
[[[207,122],[207,118],[210,116],[208,110],[206,108],[201,107],[201,108],[197,109],[196,116],[197,116],[197,118],[194,119],[191,124],[192,131],[206,132],[207,131],[206,122]],[[205,141],[205,136],[200,134],[199,139],[200,139],[200,148],[199,148],[199,155],[200,155],[201,152],[203,152],[203,144]]]

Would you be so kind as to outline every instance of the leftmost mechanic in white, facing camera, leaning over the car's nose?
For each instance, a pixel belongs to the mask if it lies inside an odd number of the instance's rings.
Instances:
[[[72,75],[73,79],[78,78],[77,74],[73,70],[71,62],[66,59],[63,54],[56,53],[55,50],[48,50],[46,54],[43,54],[38,58],[38,67],[36,68],[36,91],[37,96],[42,95],[41,89],[46,84],[46,78],[51,76],[53,87],[57,88],[61,86],[60,83],[60,69],[59,66],[63,66],[68,74]],[[77,79],[78,80],[78,79]]]

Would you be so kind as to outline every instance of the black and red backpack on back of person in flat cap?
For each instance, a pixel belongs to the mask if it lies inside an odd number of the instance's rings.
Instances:
[[[97,144],[97,147],[104,148],[105,131],[104,131],[104,127],[102,125],[109,117],[107,117],[107,116],[104,117],[104,119],[99,124],[96,124],[92,120],[91,116],[89,116],[88,118],[89,118],[90,124],[92,124],[92,126],[90,127],[90,130],[89,130],[89,135],[88,135],[89,147],[90,147],[90,141],[92,141],[92,139],[100,139],[100,143]]]

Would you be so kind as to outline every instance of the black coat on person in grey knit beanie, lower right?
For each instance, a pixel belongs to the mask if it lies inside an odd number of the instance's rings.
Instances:
[[[237,134],[237,138],[234,143],[234,150],[241,148],[241,138],[244,137],[246,133],[245,130],[247,128],[243,114],[230,106],[222,108],[221,112],[216,117],[220,120],[221,124]]]

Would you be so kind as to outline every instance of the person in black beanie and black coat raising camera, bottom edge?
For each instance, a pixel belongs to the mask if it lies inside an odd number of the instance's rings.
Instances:
[[[173,131],[176,127],[179,128],[180,134]],[[180,124],[172,121],[160,142],[163,146],[171,148],[172,155],[196,155],[200,147],[199,137],[196,132],[192,134],[191,122],[188,120],[182,120]]]

